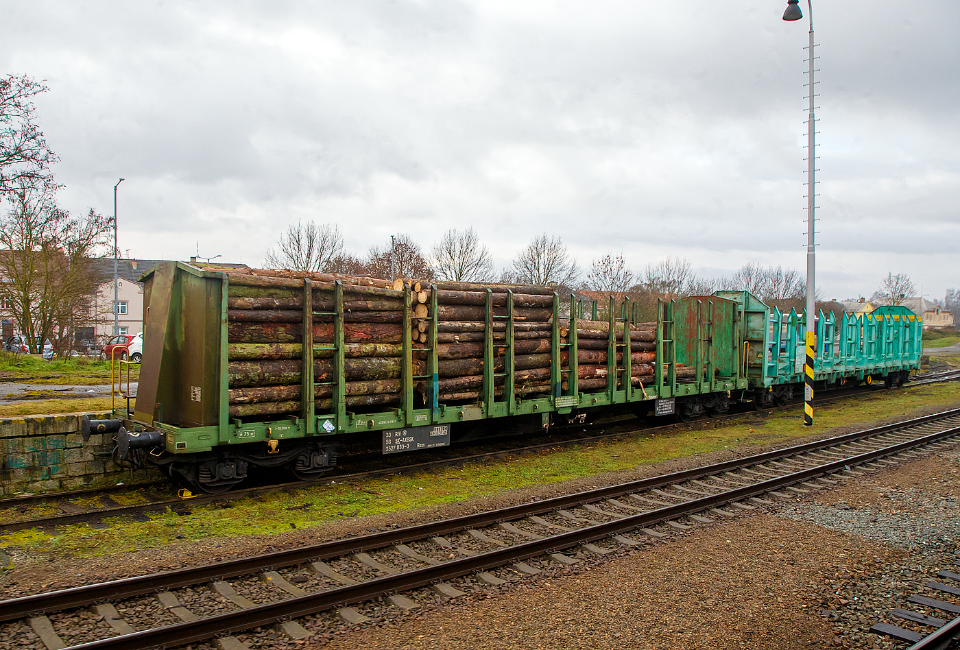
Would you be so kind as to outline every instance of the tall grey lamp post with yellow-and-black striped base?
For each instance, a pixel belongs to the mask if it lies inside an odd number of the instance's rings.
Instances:
[[[804,17],[803,12],[798,7],[800,0],[786,0],[786,11],[783,12],[783,20],[800,20]],[[814,127],[816,119],[813,116],[813,60],[816,57],[813,54],[813,7],[810,0],[806,0],[807,16],[810,19],[810,79],[807,87],[809,88],[810,111],[807,114],[806,125],[806,361],[804,362],[804,424],[813,425],[813,355],[816,348],[816,331],[814,323],[816,320],[816,302],[814,301],[815,289],[815,270],[816,253],[814,252],[813,234],[814,234],[814,209],[816,203],[816,138],[814,137]]]

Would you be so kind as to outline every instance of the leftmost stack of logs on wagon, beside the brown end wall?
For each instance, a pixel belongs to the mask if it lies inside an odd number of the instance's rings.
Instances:
[[[332,407],[335,284],[344,284],[344,375],[348,408],[383,410],[400,402],[403,292],[389,280],[262,269],[230,273],[230,417],[299,413],[303,278],[313,295],[316,409]],[[324,315],[325,313],[325,315]]]

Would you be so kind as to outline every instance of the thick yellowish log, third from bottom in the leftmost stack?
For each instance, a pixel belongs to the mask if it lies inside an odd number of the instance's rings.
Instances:
[[[359,357],[344,362],[344,378],[348,381],[392,379],[400,376],[398,357]],[[271,386],[300,383],[302,362],[299,359],[268,361],[231,361],[228,364],[229,386]],[[333,361],[318,359],[313,364],[318,381],[334,381]]]

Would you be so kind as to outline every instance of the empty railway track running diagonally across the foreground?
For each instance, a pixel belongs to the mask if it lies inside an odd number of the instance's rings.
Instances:
[[[915,449],[955,444],[950,439],[958,435],[960,409],[501,510],[16,598],[0,602],[7,627],[0,635],[18,629],[26,637],[21,645],[49,650],[133,650],[211,638],[240,650],[246,646],[228,635],[271,625],[305,638],[309,631],[292,619],[310,617],[303,619],[309,626],[327,613],[358,623],[369,606],[351,606],[374,598],[409,609],[417,606],[416,590],[457,596],[516,581],[543,566],[579,562],[578,554],[636,546],[896,465],[918,456]],[[154,612],[150,625],[162,624],[137,631],[144,624],[136,613],[144,608]],[[140,617],[129,619],[134,614]]]

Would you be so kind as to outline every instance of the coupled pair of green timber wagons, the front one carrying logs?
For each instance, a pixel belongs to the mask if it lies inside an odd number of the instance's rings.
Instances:
[[[762,405],[800,382],[792,342],[803,316],[771,315],[747,292],[660,301],[656,322],[640,323],[629,299],[611,298],[601,320],[588,319],[582,301],[539,286],[183,263],[141,279],[135,404],[92,424],[117,433],[121,458],[204,492],[228,490],[252,466],[315,478],[343,442],[394,453],[504,419],[536,428],[617,411],[686,420],[735,401]],[[818,380],[918,367],[920,325],[904,311],[840,327],[821,318]],[[771,344],[778,323],[785,352]]]

